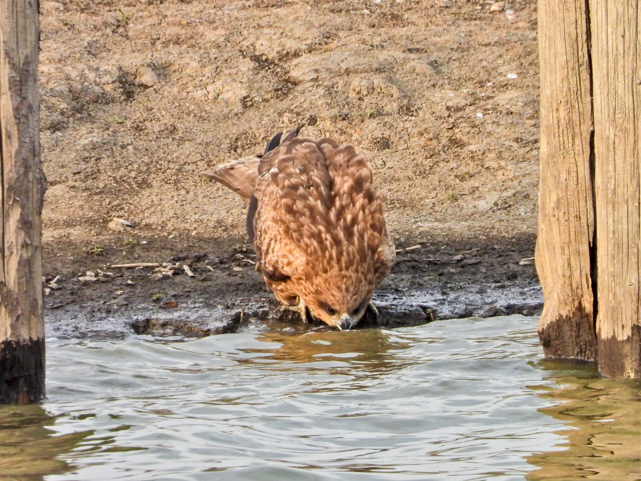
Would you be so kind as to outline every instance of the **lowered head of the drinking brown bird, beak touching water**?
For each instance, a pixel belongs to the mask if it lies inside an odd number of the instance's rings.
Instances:
[[[301,297],[312,316],[340,330],[360,321],[374,291],[367,276],[336,271],[315,276],[309,287]]]

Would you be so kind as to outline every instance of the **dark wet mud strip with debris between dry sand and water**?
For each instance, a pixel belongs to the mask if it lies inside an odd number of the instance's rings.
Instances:
[[[45,245],[47,336],[122,339],[203,337],[242,330],[298,330],[254,270],[244,239],[113,237],[103,244]],[[540,314],[535,238],[397,241],[392,274],[374,294],[378,319],[359,326],[415,326],[435,319]],[[418,246],[418,247],[417,247]],[[123,264],[152,264],[117,267]],[[53,282],[55,281],[55,282]],[[319,325],[320,327],[320,325]]]

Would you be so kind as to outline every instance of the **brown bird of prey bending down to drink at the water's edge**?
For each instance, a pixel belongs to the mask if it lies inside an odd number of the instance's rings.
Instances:
[[[394,262],[372,169],[351,145],[297,137],[301,127],[262,156],[202,174],[249,202],[247,232],[256,270],[287,308],[349,329],[370,308]]]

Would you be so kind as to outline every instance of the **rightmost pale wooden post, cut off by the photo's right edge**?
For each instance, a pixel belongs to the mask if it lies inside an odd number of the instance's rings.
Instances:
[[[641,377],[641,9],[590,1],[599,369]]]

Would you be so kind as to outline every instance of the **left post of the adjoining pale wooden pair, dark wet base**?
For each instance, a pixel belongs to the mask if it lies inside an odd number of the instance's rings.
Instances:
[[[585,0],[539,0],[540,192],[536,264],[547,357],[594,360],[592,106]]]

